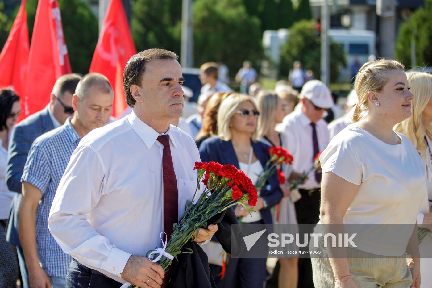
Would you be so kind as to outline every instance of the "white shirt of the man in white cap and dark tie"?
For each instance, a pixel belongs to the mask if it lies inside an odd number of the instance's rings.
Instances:
[[[317,138],[319,151],[323,151],[330,142],[330,133],[327,129],[327,123],[320,119],[316,123]],[[286,142],[286,148],[291,153],[294,160],[292,169],[296,172],[307,172],[312,168],[314,154],[314,145],[312,143],[312,126],[311,120],[301,109],[286,115],[282,124],[276,125],[276,131],[283,133]],[[315,180],[314,172],[309,173],[308,181],[300,185],[300,189],[316,189],[321,184]]]

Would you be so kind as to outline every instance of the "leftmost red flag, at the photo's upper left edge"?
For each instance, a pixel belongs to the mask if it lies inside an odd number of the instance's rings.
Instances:
[[[24,97],[25,73],[29,61],[29,31],[25,2],[21,1],[18,14],[10,29],[9,37],[0,54],[0,87],[10,87]],[[21,102],[21,109],[24,103]]]

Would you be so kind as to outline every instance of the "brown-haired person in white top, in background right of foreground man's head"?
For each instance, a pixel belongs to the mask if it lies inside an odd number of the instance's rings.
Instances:
[[[213,95],[216,92],[232,92],[228,85],[218,80],[219,64],[207,62],[200,67],[201,95]]]

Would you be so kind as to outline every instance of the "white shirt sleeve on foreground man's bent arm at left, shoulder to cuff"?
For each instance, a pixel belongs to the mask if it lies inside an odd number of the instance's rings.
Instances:
[[[98,204],[105,185],[106,170],[99,154],[79,146],[57,188],[48,219],[48,228],[61,249],[82,262],[111,274],[123,271],[131,256],[110,243],[87,221]]]

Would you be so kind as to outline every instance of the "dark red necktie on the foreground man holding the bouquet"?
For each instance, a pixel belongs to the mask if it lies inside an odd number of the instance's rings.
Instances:
[[[173,232],[172,225],[177,222],[177,179],[175,178],[174,165],[172,164],[171,148],[169,147],[169,135],[160,135],[158,137],[158,141],[163,145],[163,230],[167,234],[169,241]]]

